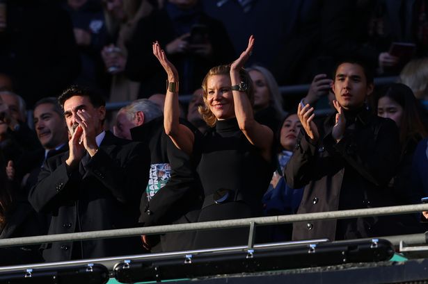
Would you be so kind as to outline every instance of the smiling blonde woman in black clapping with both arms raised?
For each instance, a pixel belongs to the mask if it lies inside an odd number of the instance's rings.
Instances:
[[[253,85],[242,67],[253,50],[247,49],[231,65],[209,70],[203,80],[203,119],[212,128],[200,140],[179,122],[178,72],[159,43],[153,53],[168,74],[164,109],[166,134],[176,147],[197,160],[205,199],[198,222],[262,216],[262,196],[274,172],[274,133],[255,121]],[[233,236],[233,237],[231,237]],[[248,228],[198,231],[195,249],[243,245]]]

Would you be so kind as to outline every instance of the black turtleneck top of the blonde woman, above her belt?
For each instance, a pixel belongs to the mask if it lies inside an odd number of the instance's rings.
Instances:
[[[236,118],[218,121],[215,129],[205,135],[198,165],[205,198],[220,188],[233,190],[258,215],[272,171],[269,162],[239,130]]]

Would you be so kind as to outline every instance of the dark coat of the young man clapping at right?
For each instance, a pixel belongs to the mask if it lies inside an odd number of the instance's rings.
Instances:
[[[362,110],[336,144],[331,136],[334,119],[335,114],[318,126],[317,144],[311,144],[303,135],[285,166],[287,184],[292,188],[304,187],[297,213],[394,205],[392,192],[386,185],[399,160],[395,123]],[[367,217],[294,223],[293,239],[388,235],[395,226],[390,223],[383,227],[386,224],[383,220]]]

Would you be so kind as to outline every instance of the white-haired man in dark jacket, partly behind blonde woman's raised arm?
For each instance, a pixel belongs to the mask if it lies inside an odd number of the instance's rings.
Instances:
[[[159,106],[148,99],[138,99],[121,108],[114,133],[142,141],[150,148],[149,183],[141,197],[139,222],[143,226],[196,222],[201,206],[198,178],[189,156],[166,135]],[[152,251],[189,249],[192,238],[193,233],[168,233],[161,236],[158,244],[154,237],[142,236],[143,245]]]

